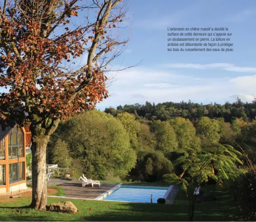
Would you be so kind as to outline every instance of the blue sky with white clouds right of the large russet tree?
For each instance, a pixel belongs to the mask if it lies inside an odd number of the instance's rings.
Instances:
[[[255,0],[130,0],[127,48],[97,109],[148,102],[243,102],[256,98]],[[167,51],[167,27],[228,27],[228,52]],[[175,31],[179,32],[179,31]],[[170,48],[170,47],[169,47]]]

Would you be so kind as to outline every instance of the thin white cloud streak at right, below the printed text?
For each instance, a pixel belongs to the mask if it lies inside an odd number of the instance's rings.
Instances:
[[[175,68],[175,69],[223,69],[232,72],[255,72],[256,67],[242,67],[235,66],[232,63],[209,63],[209,64],[198,64],[198,63],[170,63],[159,65],[163,68]]]

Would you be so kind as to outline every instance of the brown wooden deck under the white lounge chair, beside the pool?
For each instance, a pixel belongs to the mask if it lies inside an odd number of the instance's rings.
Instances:
[[[62,183],[60,186],[64,189],[66,197],[94,199],[117,184],[118,183],[101,183],[100,187],[97,185],[93,187],[90,185],[82,187],[81,181],[71,180],[68,182],[65,181],[65,183]]]

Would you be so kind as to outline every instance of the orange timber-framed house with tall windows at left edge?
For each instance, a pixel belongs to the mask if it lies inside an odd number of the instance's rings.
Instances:
[[[0,127],[0,193],[26,189],[26,148],[29,126]]]

